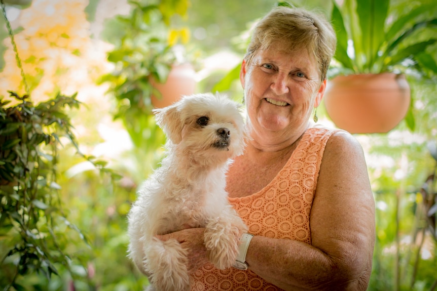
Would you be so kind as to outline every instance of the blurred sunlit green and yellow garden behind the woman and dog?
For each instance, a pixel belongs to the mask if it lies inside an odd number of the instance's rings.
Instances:
[[[278,2],[3,2],[13,37],[0,17],[0,288],[142,290],[147,278],[126,256],[126,215],[162,158],[153,84],[189,63],[195,92],[241,100],[236,72],[250,27]],[[290,3],[332,17],[333,2]],[[388,24],[412,11],[406,25],[431,20],[412,35],[427,44],[419,63],[405,54],[393,68],[410,83],[407,118],[388,133],[355,134],[376,201],[369,290],[437,290],[437,5],[374,5],[387,6]],[[403,41],[399,50],[413,40]],[[317,114],[335,127],[323,106]]]

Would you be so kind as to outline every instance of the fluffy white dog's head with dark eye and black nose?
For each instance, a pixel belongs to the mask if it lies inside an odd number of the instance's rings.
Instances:
[[[224,162],[243,152],[245,133],[240,106],[224,95],[184,96],[154,113],[169,142],[191,156]]]

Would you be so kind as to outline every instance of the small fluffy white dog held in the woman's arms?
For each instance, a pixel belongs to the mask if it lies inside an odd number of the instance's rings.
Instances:
[[[208,260],[218,269],[233,265],[247,227],[228,203],[225,174],[243,152],[244,123],[236,102],[210,93],[154,113],[167,135],[166,156],[129,213],[129,256],[155,290],[189,290],[187,251],[156,235],[205,227]]]

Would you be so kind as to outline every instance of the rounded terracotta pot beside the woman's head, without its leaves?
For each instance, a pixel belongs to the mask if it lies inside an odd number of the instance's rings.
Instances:
[[[405,116],[410,87],[403,74],[337,76],[327,83],[324,105],[337,127],[350,133],[386,133]]]

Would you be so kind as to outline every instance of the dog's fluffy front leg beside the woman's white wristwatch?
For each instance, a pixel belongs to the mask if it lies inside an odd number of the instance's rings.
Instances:
[[[247,227],[232,206],[227,206],[218,217],[208,220],[204,241],[208,260],[217,269],[231,267],[237,258],[238,244]]]

